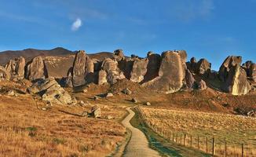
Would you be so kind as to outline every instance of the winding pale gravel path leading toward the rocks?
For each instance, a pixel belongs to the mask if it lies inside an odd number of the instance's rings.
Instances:
[[[149,148],[148,146],[148,140],[145,137],[144,133],[141,132],[141,130],[138,130],[137,128],[134,128],[130,124],[130,119],[133,118],[135,113],[130,109],[126,108],[127,111],[129,111],[129,115],[126,116],[125,119],[123,119],[123,126],[128,128],[131,131],[131,138],[129,143],[126,146],[126,151],[124,153],[124,157],[159,157],[159,153],[153,150],[152,148]]]

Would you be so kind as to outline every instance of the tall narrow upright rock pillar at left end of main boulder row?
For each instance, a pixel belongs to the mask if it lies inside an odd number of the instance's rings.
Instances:
[[[86,84],[86,65],[89,58],[86,56],[85,51],[80,50],[75,54],[75,60],[73,64],[73,86],[82,86]]]

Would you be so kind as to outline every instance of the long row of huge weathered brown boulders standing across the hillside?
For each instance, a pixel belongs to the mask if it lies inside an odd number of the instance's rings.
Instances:
[[[192,57],[190,61],[186,60],[185,50],[165,51],[162,55],[148,52],[147,57],[141,58],[125,57],[123,50],[117,49],[112,57],[104,60],[90,58],[80,50],[67,71],[64,86],[77,87],[91,82],[114,84],[120,79],[128,79],[150,89],[174,93],[181,89],[207,89],[207,81],[217,79],[222,91],[242,95],[251,90],[249,82],[256,81],[256,64],[247,61],[241,66],[242,57],[228,57],[219,71],[211,71],[211,64],[206,59],[197,62]],[[0,66],[0,79],[24,78],[33,82],[49,78],[42,57],[35,57],[27,64],[24,57],[19,57],[9,60],[5,68]],[[130,94],[130,91],[123,92]]]

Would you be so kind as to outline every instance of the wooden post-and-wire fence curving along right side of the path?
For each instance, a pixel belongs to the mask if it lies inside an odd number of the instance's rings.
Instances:
[[[254,148],[250,147],[249,144],[229,144],[227,141],[224,144],[221,141],[216,142],[217,139],[215,137],[200,137],[199,135],[192,135],[186,133],[178,133],[176,131],[171,132],[170,130],[164,130],[161,127],[154,126],[151,122],[146,119],[146,115],[144,115],[141,108],[137,108],[137,111],[144,123],[155,133],[169,140],[170,142],[174,142],[176,144],[180,144],[185,147],[196,148],[200,151],[207,152],[211,155],[216,156],[242,156],[242,157],[251,157],[256,156],[256,152],[254,152]],[[194,138],[193,138],[194,137]],[[235,145],[235,147],[234,147]],[[222,148],[223,147],[223,148]],[[251,152],[250,152],[251,151]],[[255,148],[256,151],[256,148]]]

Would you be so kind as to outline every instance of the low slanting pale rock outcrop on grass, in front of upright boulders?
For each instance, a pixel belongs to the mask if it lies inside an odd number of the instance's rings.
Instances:
[[[72,104],[73,100],[54,79],[40,79],[27,89],[29,93],[38,93],[42,100],[51,104]]]

